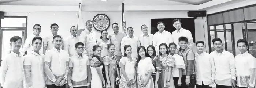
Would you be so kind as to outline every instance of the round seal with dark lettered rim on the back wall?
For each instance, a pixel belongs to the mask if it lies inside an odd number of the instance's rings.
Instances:
[[[97,31],[107,30],[110,27],[110,18],[105,14],[97,14],[92,25]]]

